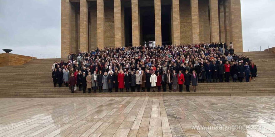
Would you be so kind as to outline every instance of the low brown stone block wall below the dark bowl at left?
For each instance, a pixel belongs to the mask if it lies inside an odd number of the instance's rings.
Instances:
[[[2,53],[0,54],[0,67],[22,65],[31,61],[32,59],[36,58],[11,53]]]

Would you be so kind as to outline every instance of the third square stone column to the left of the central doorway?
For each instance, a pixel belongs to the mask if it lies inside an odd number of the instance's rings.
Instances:
[[[97,26],[98,26],[98,48],[99,50],[105,47],[105,12],[104,12],[104,0],[97,0]]]

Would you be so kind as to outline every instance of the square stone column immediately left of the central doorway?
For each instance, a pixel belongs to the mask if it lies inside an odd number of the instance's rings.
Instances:
[[[140,45],[139,7],[138,0],[132,0],[132,43],[133,46]]]

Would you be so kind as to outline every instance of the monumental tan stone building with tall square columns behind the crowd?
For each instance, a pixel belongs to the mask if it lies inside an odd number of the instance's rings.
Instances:
[[[61,0],[61,56],[129,45],[233,42],[240,0]]]

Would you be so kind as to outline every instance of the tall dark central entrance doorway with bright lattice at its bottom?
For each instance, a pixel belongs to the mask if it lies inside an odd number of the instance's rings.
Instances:
[[[139,7],[140,38],[143,45],[155,43],[155,12],[154,6]]]

